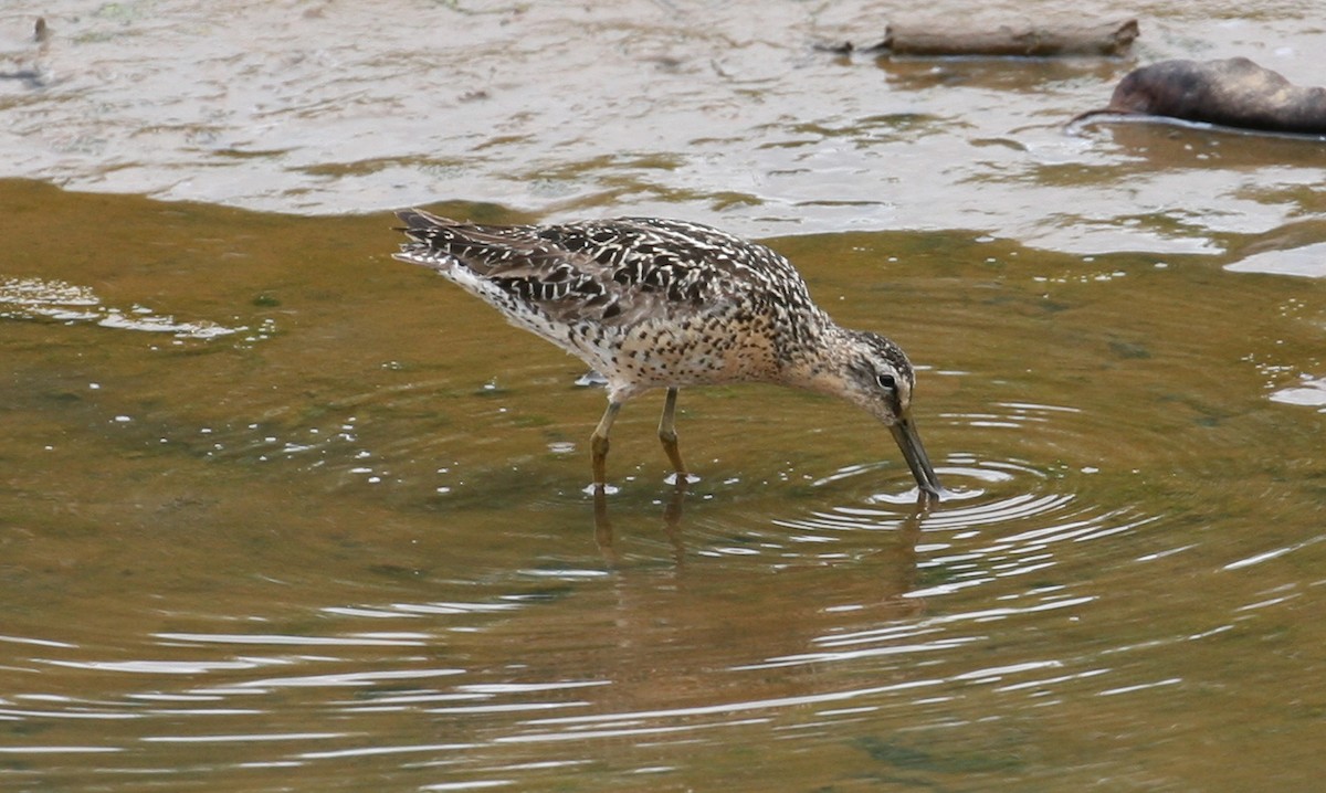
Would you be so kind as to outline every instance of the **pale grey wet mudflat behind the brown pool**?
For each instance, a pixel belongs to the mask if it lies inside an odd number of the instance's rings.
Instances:
[[[1142,36],[1123,58],[894,60],[815,45],[869,45],[915,4],[50,0],[0,11],[0,74],[23,77],[0,78],[0,174],[276,212],[493,202],[1077,253],[1212,252],[1322,211],[1318,145],[1062,129],[1164,58],[1318,85],[1321,4],[927,8],[941,27],[1135,16]],[[38,13],[41,46],[23,41]]]

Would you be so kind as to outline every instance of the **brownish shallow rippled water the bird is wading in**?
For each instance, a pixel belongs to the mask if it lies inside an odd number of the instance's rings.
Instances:
[[[595,525],[601,394],[390,261],[389,217],[3,192],[20,785],[1154,790],[1321,768],[1323,406],[1281,398],[1321,375],[1319,280],[781,240],[842,321],[926,363],[918,418],[959,496],[918,512],[887,432],[831,402],[709,389],[682,402],[703,479],[674,499],[656,406],[633,403]]]

